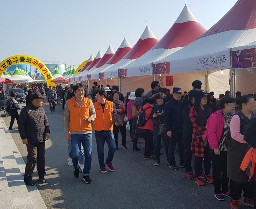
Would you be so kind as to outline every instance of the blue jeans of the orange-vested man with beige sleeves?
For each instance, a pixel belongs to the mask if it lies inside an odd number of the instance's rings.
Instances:
[[[91,145],[92,145],[91,133],[90,134],[71,134],[72,162],[75,168],[79,168],[78,159],[79,159],[81,144],[84,148],[83,173],[85,176],[88,176],[91,170]]]

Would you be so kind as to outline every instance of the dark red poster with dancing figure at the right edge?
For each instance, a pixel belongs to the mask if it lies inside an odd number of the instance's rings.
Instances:
[[[256,67],[256,48],[232,51],[232,68]]]

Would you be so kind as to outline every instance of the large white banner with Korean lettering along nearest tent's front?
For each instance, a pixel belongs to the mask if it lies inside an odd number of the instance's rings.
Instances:
[[[171,60],[170,73],[227,69],[230,67],[230,50],[225,50],[195,57]]]

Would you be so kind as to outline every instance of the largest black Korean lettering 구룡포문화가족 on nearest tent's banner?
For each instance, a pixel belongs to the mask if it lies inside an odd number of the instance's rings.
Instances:
[[[227,66],[227,59],[225,54],[202,57],[198,59],[198,70],[200,69],[210,69],[216,68],[216,66],[220,68],[224,68]]]

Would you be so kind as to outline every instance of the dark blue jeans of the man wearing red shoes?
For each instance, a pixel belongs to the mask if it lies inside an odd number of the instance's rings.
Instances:
[[[104,144],[105,141],[108,144],[109,152],[108,157],[106,159],[106,164],[109,164],[112,162],[115,149],[116,149],[116,143],[113,131],[95,131],[95,138],[97,143],[97,152],[98,152],[98,159],[100,167],[104,166]]]

